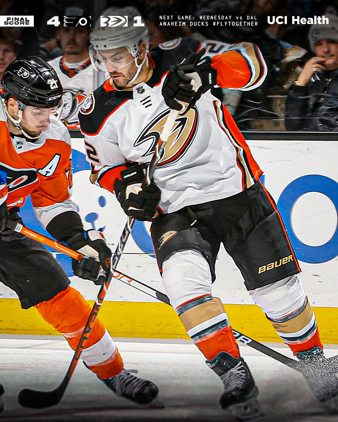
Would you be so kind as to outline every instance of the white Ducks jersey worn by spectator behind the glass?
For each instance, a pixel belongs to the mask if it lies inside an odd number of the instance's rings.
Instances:
[[[94,91],[109,78],[109,73],[94,70],[90,59],[68,63],[65,56],[50,60],[63,86],[63,114],[61,119],[68,129],[79,129],[79,110],[87,94]]]

